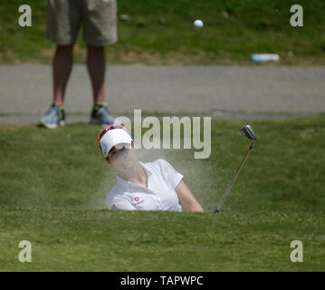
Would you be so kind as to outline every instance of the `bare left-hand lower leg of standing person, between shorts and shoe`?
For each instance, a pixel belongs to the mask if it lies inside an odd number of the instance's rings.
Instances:
[[[53,101],[63,106],[64,93],[73,63],[73,44],[57,45],[53,57]]]

